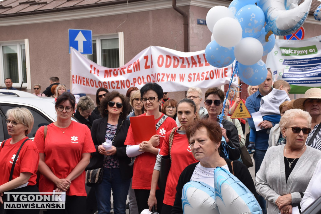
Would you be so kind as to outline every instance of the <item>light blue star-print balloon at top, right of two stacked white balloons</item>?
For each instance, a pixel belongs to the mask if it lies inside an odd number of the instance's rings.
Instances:
[[[243,6],[236,14],[235,18],[242,27],[242,37],[257,38],[265,23],[263,10],[255,4],[247,4]]]

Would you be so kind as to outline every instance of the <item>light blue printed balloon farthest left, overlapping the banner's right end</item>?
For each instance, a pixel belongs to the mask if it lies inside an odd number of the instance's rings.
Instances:
[[[214,67],[226,67],[235,60],[234,47],[222,47],[213,40],[205,48],[205,58]]]

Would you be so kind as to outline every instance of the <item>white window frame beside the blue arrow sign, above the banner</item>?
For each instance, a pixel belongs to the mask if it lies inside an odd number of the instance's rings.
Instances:
[[[98,35],[93,36],[92,40],[96,40],[96,54],[97,54],[97,64],[102,65],[101,62],[101,40],[102,39],[118,39],[119,47],[119,67],[125,64],[124,62],[124,32],[118,32],[117,34],[110,35]],[[88,55],[84,55],[88,58]]]

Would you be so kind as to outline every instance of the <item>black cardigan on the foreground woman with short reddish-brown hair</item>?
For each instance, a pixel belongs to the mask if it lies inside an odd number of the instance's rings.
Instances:
[[[227,163],[227,166],[229,167],[230,172],[232,172],[232,165],[231,165],[232,161],[230,159],[226,159],[226,158],[224,159]],[[187,166],[179,176],[178,184],[176,186],[176,195],[175,195],[174,206],[172,208],[172,214],[183,214],[183,208],[182,208],[183,186],[191,180],[195,167],[198,163],[199,162]],[[233,161],[233,169],[234,169],[235,177],[237,177],[251,191],[251,193],[253,193],[253,195],[257,200],[255,185],[247,167],[241,162],[239,162],[238,160],[235,160]]]

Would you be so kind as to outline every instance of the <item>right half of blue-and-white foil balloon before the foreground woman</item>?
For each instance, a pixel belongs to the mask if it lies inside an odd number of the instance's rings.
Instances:
[[[226,169],[214,169],[214,188],[220,213],[262,214],[251,191]]]

